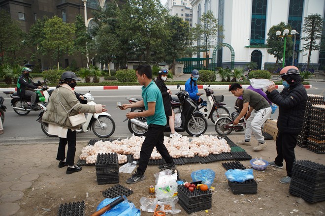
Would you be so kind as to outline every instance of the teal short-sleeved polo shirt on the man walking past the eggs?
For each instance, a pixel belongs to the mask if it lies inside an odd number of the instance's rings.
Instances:
[[[149,124],[158,124],[166,125],[167,120],[165,116],[165,110],[162,102],[162,93],[157,87],[154,81],[151,81],[150,84],[145,87],[142,86],[142,98],[144,102],[144,107],[148,110],[148,102],[156,102],[155,114],[153,116],[147,117],[147,123]]]

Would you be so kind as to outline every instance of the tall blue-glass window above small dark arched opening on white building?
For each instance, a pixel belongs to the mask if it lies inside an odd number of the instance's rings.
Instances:
[[[252,23],[251,23],[251,45],[265,43],[267,0],[253,0]]]

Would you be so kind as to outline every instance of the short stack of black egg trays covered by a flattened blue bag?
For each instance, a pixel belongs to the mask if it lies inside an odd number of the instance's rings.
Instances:
[[[246,180],[245,182],[230,182],[228,185],[233,194],[256,194],[257,182],[254,179]]]

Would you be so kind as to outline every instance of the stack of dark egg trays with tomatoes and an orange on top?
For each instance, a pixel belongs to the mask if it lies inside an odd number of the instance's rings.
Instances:
[[[210,190],[201,191],[196,189],[191,192],[184,185],[178,185],[177,188],[178,203],[188,214],[211,209],[212,192]]]

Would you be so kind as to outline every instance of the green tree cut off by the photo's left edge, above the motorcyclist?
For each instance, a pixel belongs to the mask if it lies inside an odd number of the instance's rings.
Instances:
[[[22,50],[25,33],[6,10],[0,9],[0,64],[18,63],[17,51]],[[21,52],[23,53],[23,52]]]

